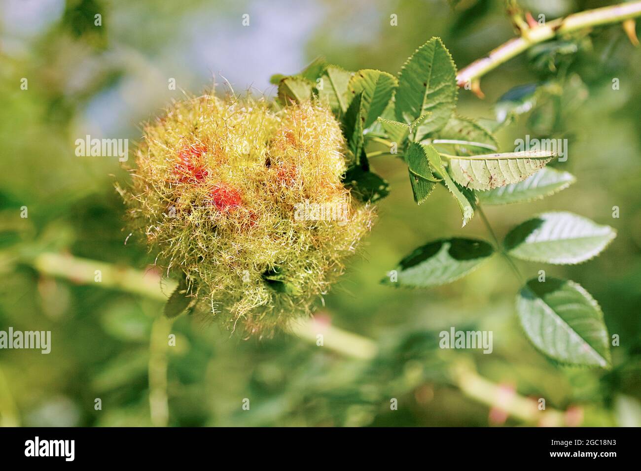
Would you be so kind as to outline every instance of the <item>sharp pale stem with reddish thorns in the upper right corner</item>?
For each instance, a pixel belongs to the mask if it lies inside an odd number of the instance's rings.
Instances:
[[[490,70],[494,70],[499,65],[508,62],[508,60],[526,51],[529,47],[547,41],[557,35],[572,33],[572,31],[601,24],[622,22],[639,16],[641,16],[641,1],[631,1],[574,13],[565,18],[549,21],[533,28],[523,29],[520,37],[512,38],[490,51],[487,56],[459,70],[456,75],[456,82],[459,87],[464,87],[466,83],[474,83]]]

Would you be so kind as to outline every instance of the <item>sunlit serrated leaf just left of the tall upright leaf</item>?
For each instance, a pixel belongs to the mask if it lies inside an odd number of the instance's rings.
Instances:
[[[387,107],[394,89],[397,87],[397,80],[387,72],[380,70],[363,69],[358,70],[349,81],[347,90],[353,96],[362,93],[361,112],[363,114],[363,128],[369,128],[376,118]]]

